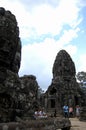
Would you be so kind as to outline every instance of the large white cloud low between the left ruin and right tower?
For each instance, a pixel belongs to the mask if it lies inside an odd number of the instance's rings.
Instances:
[[[52,67],[58,51],[65,49],[71,56],[77,51],[75,46],[65,45],[64,40],[59,44],[59,41],[46,38],[42,43],[23,46],[19,74],[36,75],[39,85],[46,90],[52,80]]]

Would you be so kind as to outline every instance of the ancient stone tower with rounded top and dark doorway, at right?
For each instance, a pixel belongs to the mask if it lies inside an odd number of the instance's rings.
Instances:
[[[53,64],[53,79],[45,93],[45,107],[49,111],[61,113],[65,103],[75,107],[80,104],[80,89],[76,82],[75,64],[70,55],[61,50]]]

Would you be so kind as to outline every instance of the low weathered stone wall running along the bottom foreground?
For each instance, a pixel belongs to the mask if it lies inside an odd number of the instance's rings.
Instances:
[[[48,120],[30,120],[17,123],[1,123],[0,130],[70,130],[69,119],[56,118]]]

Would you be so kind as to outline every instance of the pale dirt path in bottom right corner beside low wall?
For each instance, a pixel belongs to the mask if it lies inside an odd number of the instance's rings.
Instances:
[[[86,122],[79,121],[78,118],[69,118],[71,121],[71,130],[86,130]]]

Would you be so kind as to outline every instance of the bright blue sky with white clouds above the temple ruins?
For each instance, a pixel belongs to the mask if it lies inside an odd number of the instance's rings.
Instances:
[[[86,0],[3,0],[17,19],[21,39],[19,76],[35,75],[44,91],[57,53],[65,49],[76,73],[86,72]]]

